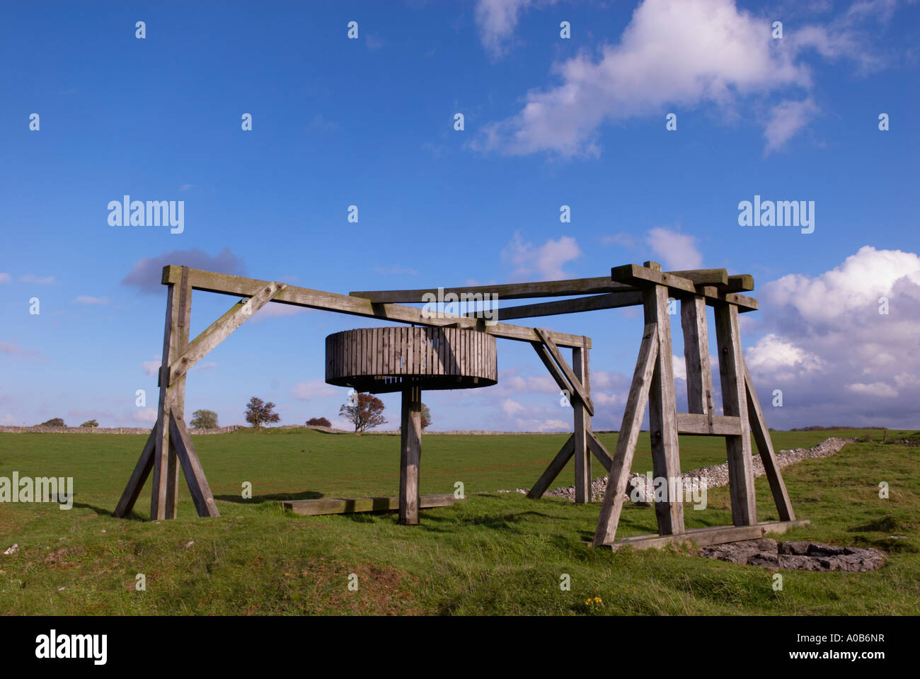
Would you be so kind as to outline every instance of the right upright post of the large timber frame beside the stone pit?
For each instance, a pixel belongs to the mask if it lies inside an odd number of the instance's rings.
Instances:
[[[730,304],[717,305],[715,311],[722,412],[740,418],[742,428],[741,436],[725,437],[729,458],[731,519],[735,525],[753,525],[757,523],[757,502],[754,499],[751,424],[748,420],[738,307]]]

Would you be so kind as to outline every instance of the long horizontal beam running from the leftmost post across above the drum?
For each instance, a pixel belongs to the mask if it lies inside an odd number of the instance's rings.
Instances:
[[[182,268],[167,265],[163,268],[163,283],[178,283],[182,279]],[[260,281],[242,276],[231,276],[225,273],[215,273],[200,269],[189,270],[189,282],[193,290],[203,290],[208,293],[232,294],[251,297],[259,290],[271,285],[270,281]],[[414,323],[420,326],[433,328],[455,327],[494,335],[505,340],[525,342],[541,342],[534,328],[514,326],[507,323],[487,325],[483,318],[469,318],[466,316],[453,316],[443,314],[441,318],[429,318],[422,315],[422,310],[413,306],[374,304],[369,299],[351,296],[348,294],[327,293],[321,290],[310,290],[289,285],[278,293],[272,302],[284,305],[305,306],[310,309],[335,311],[339,314],[351,316],[365,316],[380,320],[395,321],[398,323]],[[549,336],[560,347],[591,347],[591,338],[581,335],[569,335],[564,332],[549,331]]]

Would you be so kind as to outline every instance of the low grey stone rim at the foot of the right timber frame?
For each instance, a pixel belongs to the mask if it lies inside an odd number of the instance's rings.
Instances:
[[[815,542],[776,542],[769,537],[703,547],[698,554],[701,557],[718,558],[731,563],[787,570],[863,572],[880,569],[885,565],[884,553],[871,547],[838,547]]]

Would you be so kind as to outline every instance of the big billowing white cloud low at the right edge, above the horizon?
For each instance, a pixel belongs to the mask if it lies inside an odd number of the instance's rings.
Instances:
[[[917,254],[862,247],[821,275],[769,282],[759,297],[755,328],[766,334],[745,355],[758,391],[783,392],[783,407],[766,412],[771,426],[916,426]]]

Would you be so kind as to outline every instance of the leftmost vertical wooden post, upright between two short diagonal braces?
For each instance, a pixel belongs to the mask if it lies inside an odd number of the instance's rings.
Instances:
[[[182,267],[182,279],[169,283],[167,319],[163,334],[163,363],[160,367],[160,397],[156,413],[156,450],[154,485],[150,494],[150,518],[175,519],[178,496],[178,455],[169,440],[169,413],[182,414],[185,409],[185,375],[169,384],[169,366],[185,351],[189,343],[191,286],[189,268]]]

